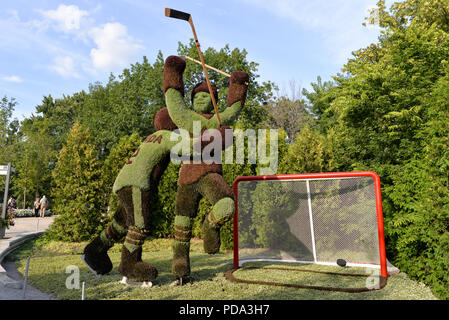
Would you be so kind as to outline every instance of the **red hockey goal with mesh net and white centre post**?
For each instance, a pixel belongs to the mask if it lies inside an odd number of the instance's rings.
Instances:
[[[249,261],[337,266],[344,259],[388,277],[375,172],[241,176],[233,191],[234,269]]]

